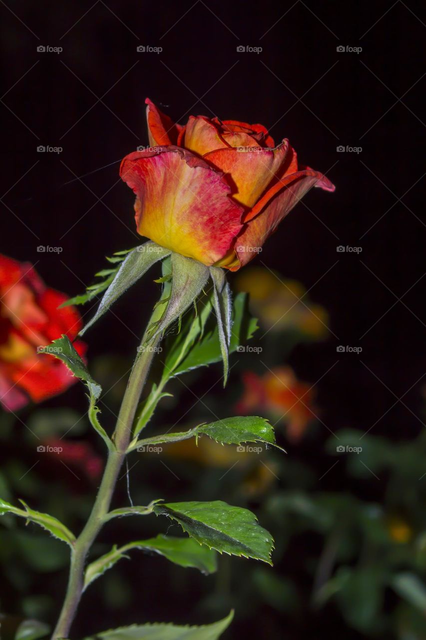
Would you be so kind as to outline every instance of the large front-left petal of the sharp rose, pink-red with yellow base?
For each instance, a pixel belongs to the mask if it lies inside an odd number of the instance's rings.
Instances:
[[[171,251],[212,265],[242,228],[223,173],[182,148],[129,154],[120,175],[138,196],[138,233]]]

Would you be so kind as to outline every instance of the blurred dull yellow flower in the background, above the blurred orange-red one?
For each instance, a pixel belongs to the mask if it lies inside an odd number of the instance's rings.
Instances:
[[[265,329],[299,331],[311,339],[327,336],[326,309],[310,303],[297,280],[287,280],[264,267],[248,267],[235,278],[235,289],[250,294],[251,310]]]

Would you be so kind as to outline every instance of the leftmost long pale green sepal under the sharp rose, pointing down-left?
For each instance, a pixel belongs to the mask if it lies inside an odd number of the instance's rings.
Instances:
[[[104,297],[100,301],[95,316],[86,324],[84,329],[80,332],[83,335],[92,324],[94,324],[103,314],[111,307],[111,305],[120,296],[132,286],[141,276],[152,267],[152,265],[170,255],[168,249],[164,249],[158,244],[148,241],[141,246],[137,246],[129,253],[127,253],[120,268],[118,269],[111,284],[109,284]]]

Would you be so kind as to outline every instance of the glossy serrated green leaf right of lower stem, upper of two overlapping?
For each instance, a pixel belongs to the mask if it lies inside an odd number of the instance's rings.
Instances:
[[[256,516],[248,509],[215,500],[156,504],[153,510],[156,515],[176,520],[191,538],[219,553],[272,564],[272,536],[258,525]]]

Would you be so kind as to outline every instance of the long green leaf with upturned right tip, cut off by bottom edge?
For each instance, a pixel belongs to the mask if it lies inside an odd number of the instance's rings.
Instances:
[[[103,631],[85,640],[217,640],[229,627],[233,611],[226,618],[202,627],[180,627],[152,623]]]

